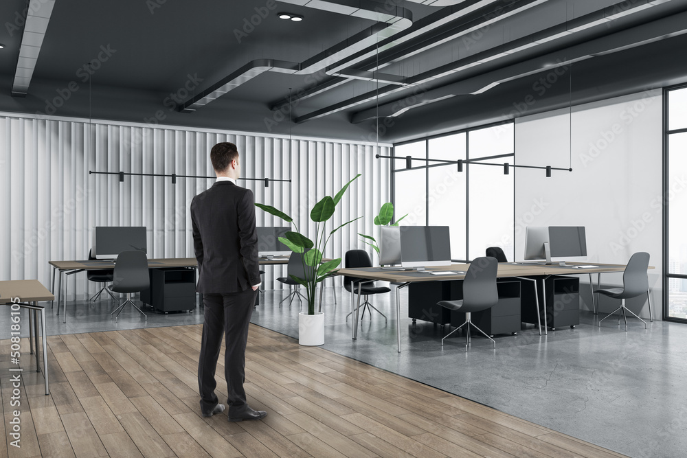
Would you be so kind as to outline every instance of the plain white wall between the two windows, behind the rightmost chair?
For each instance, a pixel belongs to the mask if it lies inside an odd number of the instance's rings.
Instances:
[[[575,106],[572,116],[564,109],[517,119],[517,164],[573,169],[554,170],[551,178],[543,170],[517,169],[517,260],[524,227],[585,226],[589,262],[626,263],[637,251],[651,255],[653,312],[662,316],[662,105],[662,91],[652,90]],[[621,285],[622,274],[602,275],[602,285],[609,284]],[[588,285],[582,288],[591,308]],[[600,310],[611,312],[617,303],[602,298]],[[646,297],[628,305],[649,317]]]

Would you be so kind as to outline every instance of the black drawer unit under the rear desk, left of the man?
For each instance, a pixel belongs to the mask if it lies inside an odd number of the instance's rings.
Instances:
[[[151,268],[150,289],[141,300],[161,312],[196,308],[196,270],[193,268]]]

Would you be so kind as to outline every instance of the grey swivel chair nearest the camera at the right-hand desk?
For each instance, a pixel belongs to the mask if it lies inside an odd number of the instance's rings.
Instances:
[[[470,343],[470,326],[482,332],[487,339],[494,343],[496,348],[496,341],[488,336],[483,330],[477,328],[471,321],[472,312],[481,312],[491,308],[499,301],[499,293],[496,288],[496,272],[498,270],[498,262],[495,257],[477,257],[470,263],[465,279],[463,280],[463,298],[458,301],[439,301],[438,306],[448,308],[449,310],[458,310],[465,313],[465,323],[449,332],[444,339],[458,331],[463,326],[465,328],[465,351],[468,350]],[[444,346],[444,339],[441,339],[441,346]]]

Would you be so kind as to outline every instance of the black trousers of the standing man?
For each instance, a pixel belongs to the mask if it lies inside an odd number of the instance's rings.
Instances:
[[[258,291],[252,288],[240,293],[203,294],[205,316],[198,363],[198,387],[203,413],[210,413],[218,404],[214,392],[217,387],[214,376],[223,335],[226,341],[224,376],[229,393],[227,407],[234,410],[246,404],[246,392],[243,389],[246,378],[246,343],[257,294]]]

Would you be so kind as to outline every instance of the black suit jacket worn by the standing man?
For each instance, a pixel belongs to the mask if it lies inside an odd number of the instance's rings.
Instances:
[[[217,181],[191,201],[199,293],[237,293],[260,283],[253,192]]]

